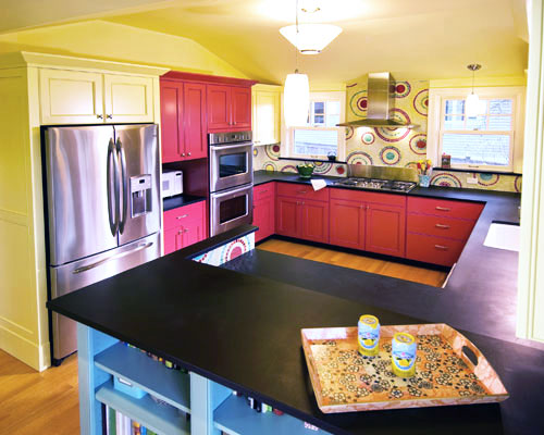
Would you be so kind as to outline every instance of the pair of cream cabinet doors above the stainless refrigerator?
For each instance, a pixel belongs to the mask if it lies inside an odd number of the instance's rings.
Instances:
[[[40,69],[41,124],[153,122],[153,78]]]

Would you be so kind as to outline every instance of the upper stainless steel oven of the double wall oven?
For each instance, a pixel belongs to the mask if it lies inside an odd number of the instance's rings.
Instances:
[[[210,191],[254,182],[254,145],[210,145]]]

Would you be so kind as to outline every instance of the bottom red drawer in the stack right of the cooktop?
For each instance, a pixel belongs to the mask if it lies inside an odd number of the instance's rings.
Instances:
[[[449,266],[457,261],[463,246],[459,240],[408,233],[406,258]]]

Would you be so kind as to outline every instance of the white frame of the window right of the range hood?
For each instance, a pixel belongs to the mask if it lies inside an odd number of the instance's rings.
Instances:
[[[447,99],[462,99],[471,92],[471,88],[450,88],[450,89],[429,89],[429,119],[426,132],[426,158],[435,166],[441,165],[442,144],[441,144],[441,122],[444,101]],[[456,166],[459,170],[489,171],[489,172],[515,172],[521,173],[523,166],[523,120],[526,109],[526,87],[524,86],[505,86],[505,87],[481,87],[474,88],[474,94],[482,98],[511,98],[514,100],[514,141],[511,147],[511,166],[481,166],[468,167]],[[479,134],[492,134],[499,132],[479,132]]]

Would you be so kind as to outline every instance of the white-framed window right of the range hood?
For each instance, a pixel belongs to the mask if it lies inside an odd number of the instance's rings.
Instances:
[[[494,172],[521,171],[522,88],[480,88],[479,114],[466,115],[468,89],[431,90],[429,146],[452,156],[452,167]],[[436,95],[438,94],[438,95]],[[433,148],[432,145],[436,144]]]

